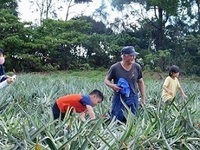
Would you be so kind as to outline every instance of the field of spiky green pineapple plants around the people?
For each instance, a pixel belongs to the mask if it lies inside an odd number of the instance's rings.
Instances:
[[[106,71],[17,74],[15,82],[0,89],[0,149],[2,150],[198,150],[200,149],[200,82],[182,78],[188,95],[163,105],[164,79],[144,75],[146,106],[138,117],[127,109],[127,123],[109,120],[112,91],[104,84]],[[51,106],[65,94],[104,93],[94,110],[96,120],[66,114],[53,120]]]

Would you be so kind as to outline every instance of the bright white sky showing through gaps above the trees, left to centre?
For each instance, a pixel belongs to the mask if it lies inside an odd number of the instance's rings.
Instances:
[[[40,24],[40,12],[39,12],[39,7],[37,7],[37,5],[33,5],[31,6],[31,3],[29,2],[30,0],[21,0],[21,2],[19,2],[19,17],[21,18],[21,21],[32,21],[34,24]],[[41,2],[44,0],[33,0],[34,2]],[[67,12],[67,4],[66,3],[62,3],[58,2],[58,0],[52,0],[53,3],[55,3],[55,8],[58,8],[60,6],[62,6],[62,11],[58,10],[56,11],[57,13],[57,19],[59,20],[65,20],[66,17],[66,12]],[[124,11],[113,11],[111,9],[111,7],[108,4],[109,0],[93,0],[92,3],[88,3],[88,4],[76,4],[73,7],[70,8],[70,14],[68,17],[68,20],[74,16],[77,15],[92,15],[95,10],[97,8],[99,8],[99,6],[101,6],[102,2],[106,3],[106,13],[108,13],[110,16],[107,16],[107,20],[106,20],[106,24],[109,27],[110,23],[114,22],[115,18],[119,18],[120,22],[122,21],[121,19],[123,19],[123,21],[125,22],[125,24],[129,25],[129,24],[138,24],[137,23],[137,19],[138,18],[142,18],[143,16],[143,12],[141,11],[141,7],[139,6],[139,4],[133,4],[133,5],[128,5],[128,7],[126,9],[124,9]],[[41,4],[41,3],[40,3]],[[38,10],[38,11],[36,11]],[[138,11],[138,13],[136,15],[130,16],[130,18],[124,18],[122,17],[124,14],[130,14],[130,11]],[[84,13],[82,13],[84,12]],[[51,18],[51,17],[50,17]],[[103,20],[99,20],[99,18],[94,18],[96,21],[103,21]],[[98,19],[98,20],[97,20]],[[104,22],[104,21],[103,21]],[[117,32],[118,29],[120,29],[122,27],[122,25],[118,24],[117,25],[118,28],[116,28]]]

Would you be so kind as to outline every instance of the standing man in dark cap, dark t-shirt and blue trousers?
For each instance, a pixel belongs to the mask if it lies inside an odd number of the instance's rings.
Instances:
[[[122,61],[113,64],[106,77],[105,84],[113,89],[114,97],[112,101],[111,119],[116,118],[121,122],[126,122],[124,104],[137,115],[138,92],[141,94],[141,104],[145,105],[145,85],[142,76],[141,66],[135,62],[139,53],[133,46],[126,46],[121,50]],[[122,102],[123,101],[123,102]],[[124,104],[123,104],[124,103]]]

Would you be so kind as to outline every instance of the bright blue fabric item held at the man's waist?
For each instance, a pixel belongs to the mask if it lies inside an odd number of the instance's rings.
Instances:
[[[119,91],[120,94],[124,95],[125,97],[129,97],[130,95],[130,86],[126,79],[124,78],[119,78],[117,82],[117,86],[119,86],[121,89]]]

